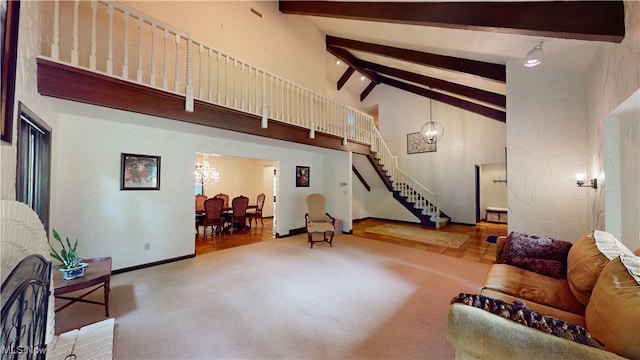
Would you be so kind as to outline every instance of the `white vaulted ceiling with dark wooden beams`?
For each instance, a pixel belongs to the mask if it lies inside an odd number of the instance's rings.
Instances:
[[[502,122],[507,61],[542,41],[540,66],[584,71],[598,46],[624,38],[621,0],[281,0],[279,9],[326,35],[327,52],[346,64],[335,75],[338,90],[351,83],[364,100],[385,84]]]

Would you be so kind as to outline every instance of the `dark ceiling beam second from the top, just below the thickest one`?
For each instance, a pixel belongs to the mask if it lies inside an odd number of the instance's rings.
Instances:
[[[331,47],[364,51],[372,54],[378,54],[404,61],[409,61],[420,65],[473,74],[492,80],[502,82],[505,82],[507,80],[507,72],[504,65],[492,64],[484,61],[429,54],[417,50],[401,49],[392,46],[366,43],[351,39],[343,39],[329,35],[326,36],[326,44],[327,49]]]

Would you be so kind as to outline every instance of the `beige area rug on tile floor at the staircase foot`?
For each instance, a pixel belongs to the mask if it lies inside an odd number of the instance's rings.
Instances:
[[[383,224],[365,230],[373,234],[386,235],[399,239],[419,241],[427,244],[457,248],[469,239],[464,234],[452,234],[445,231],[423,229],[401,224]]]

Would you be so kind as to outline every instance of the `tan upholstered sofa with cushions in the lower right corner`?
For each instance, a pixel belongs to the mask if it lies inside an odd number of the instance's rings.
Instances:
[[[481,292],[452,299],[456,359],[640,359],[638,251],[597,230],[574,243],[511,232],[496,248]]]

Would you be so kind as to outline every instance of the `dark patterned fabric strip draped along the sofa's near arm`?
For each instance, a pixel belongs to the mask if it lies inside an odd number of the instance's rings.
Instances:
[[[505,301],[483,295],[460,293],[451,300],[451,303],[461,303],[477,307],[527,327],[544,331],[547,334],[552,334],[598,349],[604,349],[604,346],[594,339],[584,327],[574,323],[567,323],[552,316],[539,314],[526,307],[521,300],[516,300],[512,304],[509,304]]]

